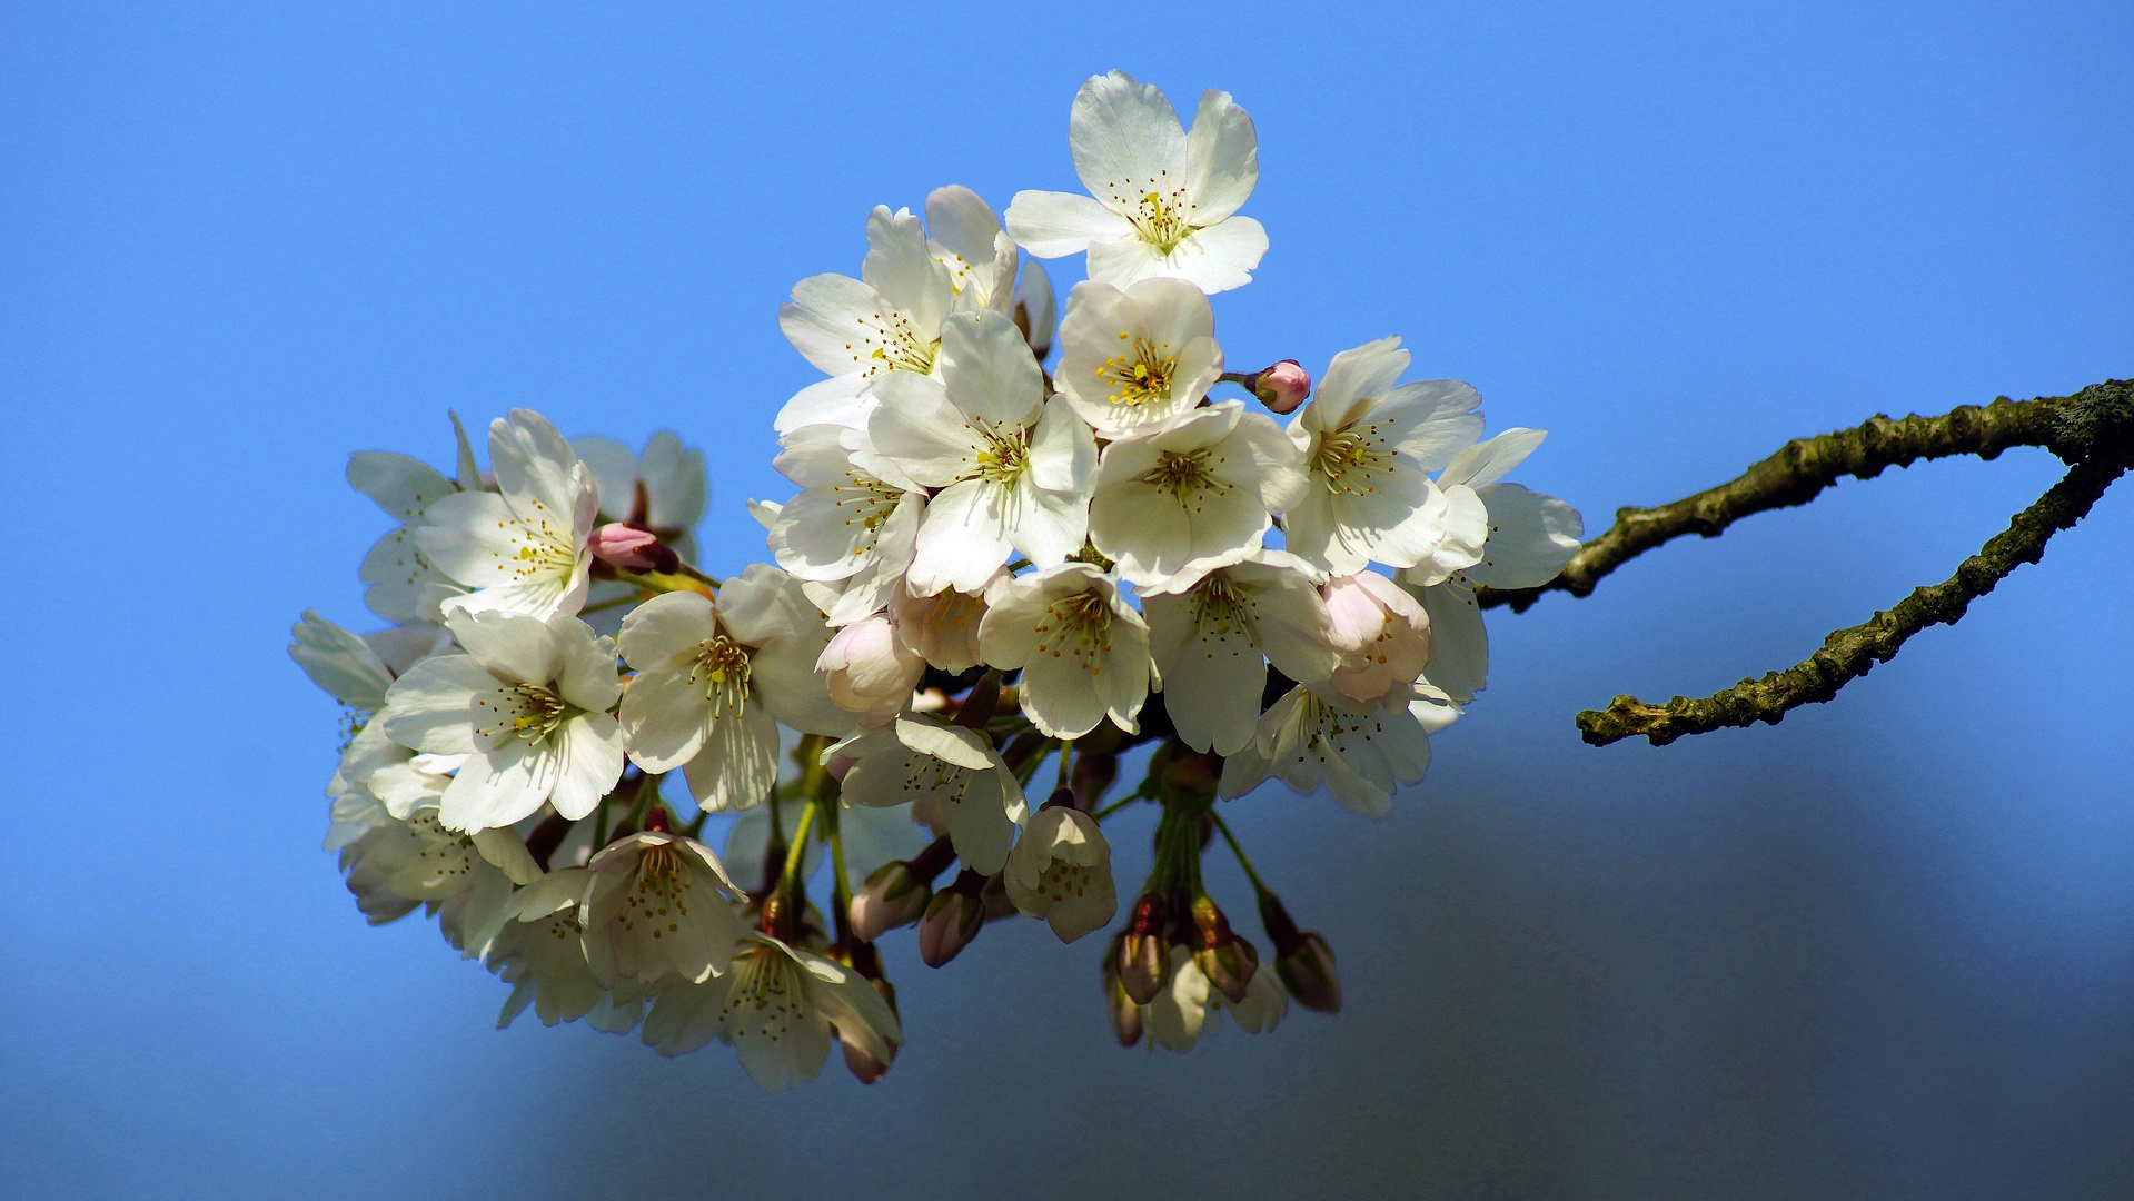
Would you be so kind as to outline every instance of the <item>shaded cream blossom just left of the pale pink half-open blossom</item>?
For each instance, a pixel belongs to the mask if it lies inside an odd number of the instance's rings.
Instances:
[[[1187,747],[1231,755],[1253,740],[1270,661],[1291,680],[1329,680],[1338,659],[1312,576],[1295,555],[1253,550],[1142,593],[1148,653]]]

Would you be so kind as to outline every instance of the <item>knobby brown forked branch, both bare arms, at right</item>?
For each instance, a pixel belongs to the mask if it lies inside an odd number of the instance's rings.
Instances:
[[[2134,386],[2125,380],[2091,384],[2072,397],[2040,397],[1991,405],[1961,405],[1944,416],[1874,416],[1854,429],[1788,442],[1778,454],[1750,467],[1741,478],[1679,499],[1671,506],[1624,508],[1615,525],[1588,542],[1564,570],[1539,589],[1477,589],[1483,606],[1509,604],[1513,612],[1541,593],[1588,595],[1594,585],[1684,533],[1718,538],[1735,521],[1773,508],[1807,503],[1842,476],[1861,480],[1916,459],[1976,454],[1995,459],[2010,446],[2042,446],[2070,465],[2066,478],[2038,501],[2014,514],[1957,574],[1931,587],[1912,589],[1889,612],[1840,629],[1822,648],[1784,672],[1739,685],[1703,700],[1677,695],[1667,704],[1643,704],[1618,695],[1605,710],[1577,717],[1579,732],[1594,747],[1643,734],[1665,747],[1684,734],[1705,734],[1726,725],[1778,723],[1786,710],[1820,704],[1876,663],[1897,655],[1904,642],[1929,625],[1955,623],[1972,599],[1993,591],[2019,563],[2036,563],[2053,533],[2081,521],[2104,489],[2134,463]]]

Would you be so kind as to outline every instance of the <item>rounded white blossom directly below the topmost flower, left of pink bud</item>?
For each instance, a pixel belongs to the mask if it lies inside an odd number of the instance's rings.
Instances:
[[[1223,373],[1208,294],[1182,279],[1082,282],[1061,322],[1058,395],[1099,437],[1174,425]]]

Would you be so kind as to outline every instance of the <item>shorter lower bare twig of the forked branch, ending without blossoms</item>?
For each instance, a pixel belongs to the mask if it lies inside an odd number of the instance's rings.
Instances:
[[[1995,401],[1987,410],[1972,412],[1991,414],[2004,403],[2008,401]],[[2010,410],[2021,412],[2019,403],[2008,405]],[[2121,380],[2108,380],[2104,384],[2083,388],[2074,397],[2023,401],[2023,405],[2034,405],[2029,410],[2034,416],[2017,418],[2029,425],[2029,433],[2023,435],[2023,442],[2004,439],[1991,444],[1993,454],[1997,454],[2002,446],[2047,446],[2064,461],[2070,461],[2072,467],[2057,484],[2038,497],[2034,506],[2014,514],[2008,529],[1995,533],[1985,548],[1978,550],[1978,555],[1965,559],[1957,567],[1955,576],[1933,587],[1912,589],[1912,595],[1897,602],[1897,606],[1889,612],[1878,612],[1861,625],[1831,634],[1822,640],[1822,651],[1816,651],[1803,663],[1786,672],[1771,672],[1761,680],[1741,680],[1739,685],[1703,700],[1677,695],[1667,704],[1643,704],[1633,695],[1618,695],[1605,710],[1586,710],[1577,717],[1581,736],[1594,747],[1605,747],[1609,742],[1643,734],[1654,747],[1665,747],[1684,734],[1705,734],[1726,725],[1754,725],[1756,721],[1775,725],[1790,708],[1801,704],[1822,704],[1835,698],[1837,689],[1846,683],[1865,676],[1876,663],[1895,657],[1897,648],[1921,629],[1929,625],[1955,625],[1972,599],[1993,591],[1993,587],[2014,572],[2019,563],[2036,563],[2044,555],[2044,544],[2055,533],[2072,527],[2089,514],[2089,508],[2100,495],[2104,495],[2104,489],[2108,489],[2113,480],[2134,465],[2134,386],[2128,386]],[[1963,410],[1957,410],[1948,416],[1955,418]],[[1906,422],[1923,420],[1927,418],[1906,418]],[[1895,427],[1904,422],[1891,425]],[[1850,433],[1857,431],[1848,431],[1848,435]],[[2036,437],[2036,442],[2027,442],[2029,437]],[[1991,457],[1985,450],[1972,452]],[[1761,463],[1758,469],[1769,463],[1771,459]],[[1756,469],[1750,471],[1750,476],[1754,474]],[[1743,476],[1743,480],[1750,476]],[[1714,493],[1718,491],[1724,489],[1714,489]],[[1686,506],[1694,499],[1697,497],[1679,503]],[[1673,510],[1677,506],[1667,508]],[[1622,529],[1622,523],[1618,523],[1618,529]],[[1615,531],[1611,529],[1609,535],[1613,533]],[[1600,542],[1605,540],[1607,535],[1603,535]],[[1592,585],[1588,585],[1588,591],[1590,587]]]

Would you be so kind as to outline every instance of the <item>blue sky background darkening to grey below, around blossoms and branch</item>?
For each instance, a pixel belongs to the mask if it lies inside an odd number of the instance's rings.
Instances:
[[[856,271],[875,203],[1071,190],[1090,73],[1257,119],[1236,365],[1400,333],[1551,429],[1522,480],[1598,529],[1793,435],[2134,373],[2130,60],[2123,2],[6,4],[0,1192],[2134,1192],[2134,484],[1835,704],[1571,727],[1944,578],[2042,452],[1494,614],[1389,821],[1233,811],[1349,1009],[1189,1058],[1114,1047],[1097,947],[1037,924],[892,945],[871,1090],[493,1032],[504,986],[316,849],[335,710],[284,655],[307,606],[365,621],[346,454],[442,463],[446,407],[676,429],[706,565],[762,557],[785,290]]]

